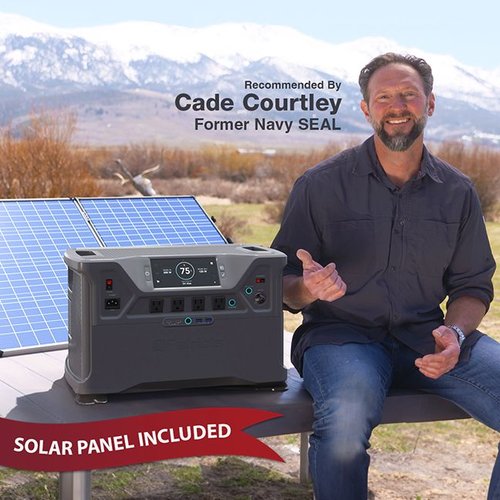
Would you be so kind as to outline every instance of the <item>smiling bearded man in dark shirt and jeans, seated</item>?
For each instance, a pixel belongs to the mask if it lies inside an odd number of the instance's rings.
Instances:
[[[359,83],[375,134],[297,180],[273,242],[288,255],[284,302],[304,317],[292,361],[314,401],[316,500],[367,498],[390,386],[439,394],[500,430],[500,344],[476,330],[495,263],[472,183],[424,146],[431,68],[384,54]],[[500,499],[499,459],[488,498]]]

